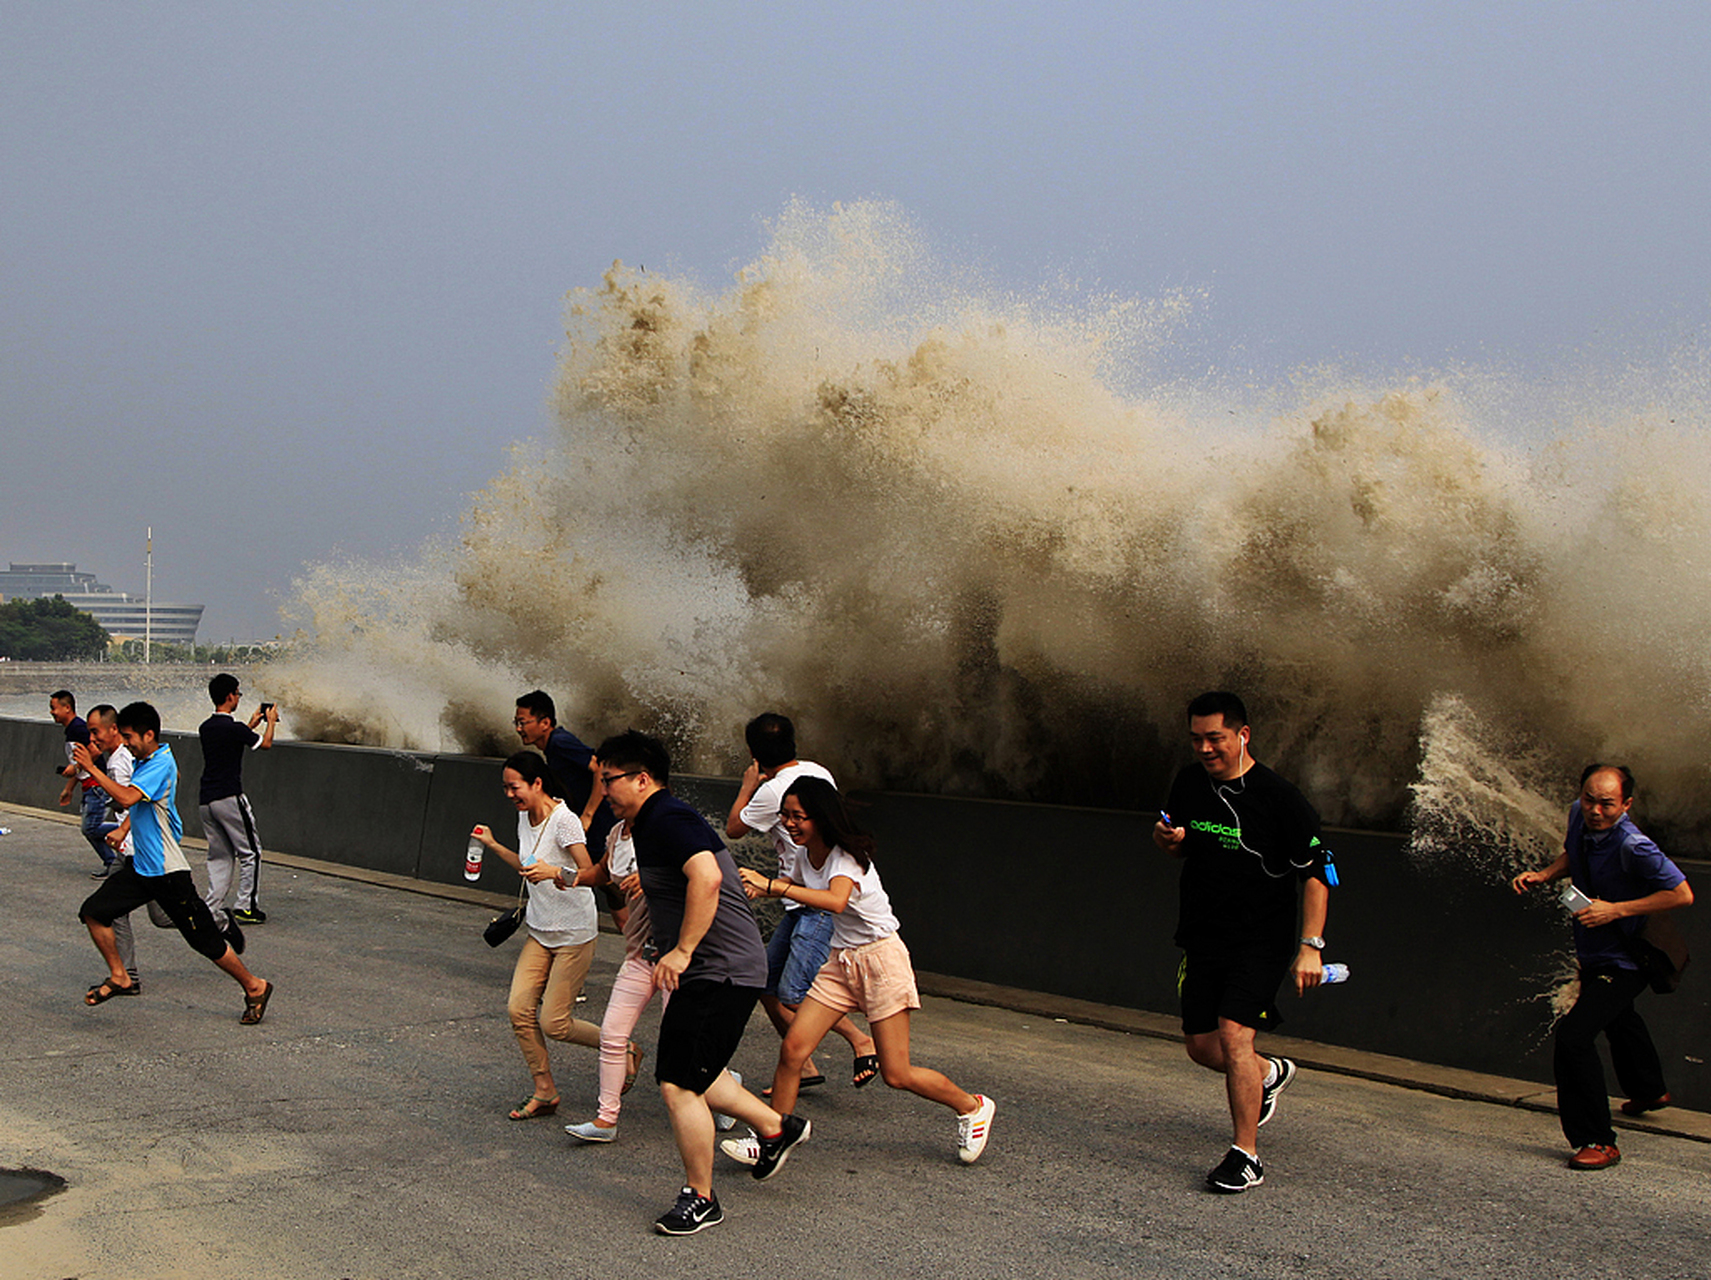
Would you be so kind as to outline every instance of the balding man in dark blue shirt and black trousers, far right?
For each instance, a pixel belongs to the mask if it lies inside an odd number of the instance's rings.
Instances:
[[[1670,1102],[1663,1063],[1634,999],[1649,984],[1636,955],[1648,916],[1687,907],[1694,892],[1687,876],[1655,845],[1627,811],[1634,806],[1634,775],[1624,765],[1588,765],[1581,797],[1569,809],[1569,832],[1557,859],[1523,871],[1511,885],[1526,893],[1535,885],[1569,876],[1586,902],[1574,910],[1574,955],[1581,994],[1557,1022],[1552,1068],[1557,1076],[1557,1117],[1574,1147],[1569,1169],[1608,1169],[1622,1159],[1610,1124],[1598,1034],[1610,1042],[1610,1064],[1627,1095],[1622,1111],[1644,1116]]]

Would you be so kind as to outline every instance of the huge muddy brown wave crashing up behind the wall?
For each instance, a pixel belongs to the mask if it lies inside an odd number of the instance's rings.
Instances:
[[[1502,397],[1466,375],[1271,416],[1213,378],[1119,394],[1186,306],[994,296],[885,204],[790,205],[725,291],[614,265],[570,299],[558,438],[460,546],[383,602],[305,578],[299,696],[472,748],[539,683],[686,768],[743,763],[772,708],[852,780],[1145,804],[1186,698],[1232,686],[1333,820],[1396,820],[1449,707],[1545,773],[1622,755],[1653,811],[1702,808],[1704,441],[1617,414],[1528,455],[1470,424]],[[1502,794],[1492,767],[1417,804]]]

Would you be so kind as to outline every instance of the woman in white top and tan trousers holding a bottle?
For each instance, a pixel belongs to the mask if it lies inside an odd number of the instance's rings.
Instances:
[[[517,806],[517,852],[494,840],[486,827],[477,827],[474,839],[529,883],[524,916],[529,938],[512,972],[508,1001],[512,1030],[534,1076],[534,1093],[510,1112],[513,1121],[524,1121],[558,1111],[558,1087],[542,1032],[554,1040],[601,1047],[601,1028],[575,1016],[577,996],[594,962],[599,922],[594,893],[577,886],[577,876],[590,866],[587,835],[558,797],[546,760],[518,751],[505,761],[501,779],[505,799]]]

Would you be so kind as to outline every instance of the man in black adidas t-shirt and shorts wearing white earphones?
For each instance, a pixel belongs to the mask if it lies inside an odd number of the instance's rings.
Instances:
[[[1282,1020],[1275,1001],[1285,975],[1297,994],[1319,986],[1329,886],[1319,815],[1247,753],[1242,700],[1203,693],[1187,717],[1199,763],[1177,773],[1153,844],[1182,859],[1182,1035],[1193,1061],[1223,1075],[1232,1143],[1206,1186],[1228,1194],[1264,1182],[1259,1126],[1295,1078],[1295,1063],[1258,1054],[1254,1032]]]

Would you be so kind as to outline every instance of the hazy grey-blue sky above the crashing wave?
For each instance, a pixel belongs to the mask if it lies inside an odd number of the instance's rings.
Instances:
[[[0,5],[0,560],[263,637],[546,430],[563,296],[897,200],[1182,368],[1704,346],[1702,3]],[[87,495],[104,493],[91,513]]]

